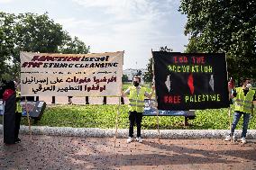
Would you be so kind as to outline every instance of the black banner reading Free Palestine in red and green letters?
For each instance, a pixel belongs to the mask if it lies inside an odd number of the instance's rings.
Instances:
[[[229,107],[224,53],[153,51],[152,55],[159,110]]]

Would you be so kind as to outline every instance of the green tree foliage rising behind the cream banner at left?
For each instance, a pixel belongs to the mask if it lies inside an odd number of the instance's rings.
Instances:
[[[0,13],[0,78],[18,77],[20,51],[41,53],[88,53],[86,44],[55,23],[48,13]],[[13,59],[14,64],[6,62]]]

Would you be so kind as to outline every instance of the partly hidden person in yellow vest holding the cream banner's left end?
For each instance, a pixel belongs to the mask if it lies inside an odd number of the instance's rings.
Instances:
[[[20,124],[22,118],[23,107],[21,105],[21,92],[20,92],[20,85],[15,83],[16,86],[16,111],[15,111],[15,129],[14,129],[14,138],[15,143],[20,143],[21,139],[19,139],[19,131],[20,131]]]

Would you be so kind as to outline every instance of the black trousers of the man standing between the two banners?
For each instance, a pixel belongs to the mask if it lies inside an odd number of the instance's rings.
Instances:
[[[137,137],[141,137],[141,130],[142,130],[142,112],[129,112],[129,137],[133,138],[133,126],[136,122],[137,125]]]

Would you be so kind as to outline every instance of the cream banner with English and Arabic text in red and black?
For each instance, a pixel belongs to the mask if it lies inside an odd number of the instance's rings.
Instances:
[[[21,52],[23,96],[120,96],[123,51],[94,54]]]

